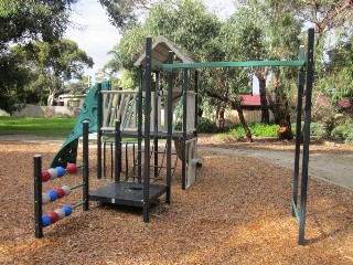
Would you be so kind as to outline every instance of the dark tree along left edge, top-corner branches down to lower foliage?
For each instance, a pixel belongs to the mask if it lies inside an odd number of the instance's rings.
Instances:
[[[36,41],[57,41],[66,30],[68,11],[77,0],[0,1],[0,108],[13,112],[31,93],[25,87],[30,74],[10,44],[21,43],[29,51]],[[30,97],[32,97],[30,96]]]

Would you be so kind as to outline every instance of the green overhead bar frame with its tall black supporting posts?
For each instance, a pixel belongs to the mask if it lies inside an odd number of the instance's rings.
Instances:
[[[146,105],[145,112],[148,113],[150,108],[150,95],[151,95],[151,73],[152,71],[167,71],[169,73],[169,100],[171,102],[171,95],[173,92],[173,71],[181,70],[183,73],[183,87],[184,93],[188,91],[188,77],[190,70],[205,68],[205,67],[261,67],[261,66],[276,66],[276,67],[299,67],[298,74],[298,99],[297,99],[297,129],[296,129],[296,150],[295,150],[295,173],[293,173],[293,190],[292,190],[292,215],[299,223],[299,245],[304,244],[304,230],[306,230],[306,213],[307,213],[307,189],[308,189],[308,167],[309,167],[309,144],[310,144],[310,123],[311,123],[311,98],[312,98],[312,83],[313,83],[313,43],[314,43],[314,30],[308,30],[308,47],[307,54],[304,46],[299,49],[299,59],[296,61],[248,61],[248,62],[211,62],[211,63],[178,63],[173,64],[173,52],[169,52],[168,63],[160,63],[153,59],[152,54],[152,40],[147,38],[146,43],[146,56],[145,56],[145,92],[146,92]],[[142,82],[142,80],[141,80]],[[195,72],[195,87],[197,88],[197,72]],[[197,93],[197,91],[195,91]],[[301,116],[304,97],[304,125],[303,125],[303,142],[302,142],[302,163],[301,163],[301,178],[300,178],[300,148],[301,148]],[[185,105],[183,105],[184,116],[183,124],[186,124]],[[172,120],[172,112],[168,112],[168,120]],[[196,120],[196,116],[195,116]],[[145,141],[149,142],[150,138],[150,116],[145,117]],[[196,135],[196,132],[195,132]],[[171,127],[168,129],[168,156],[170,156],[170,146],[172,138]],[[188,135],[184,130],[183,139],[186,139]],[[146,156],[149,153],[149,145],[146,146]],[[149,159],[146,158],[146,168],[149,168]],[[145,188],[148,191],[149,183],[149,170],[145,170]],[[301,181],[301,190],[299,193],[299,180]],[[170,181],[168,182],[168,192],[170,192]],[[298,198],[300,195],[300,203]],[[146,195],[148,198],[148,195]],[[168,200],[169,201],[169,200]]]

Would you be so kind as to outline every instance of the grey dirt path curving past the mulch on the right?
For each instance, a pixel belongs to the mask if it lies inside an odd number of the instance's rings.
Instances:
[[[295,153],[261,149],[228,149],[222,147],[199,147],[200,151],[213,150],[220,153],[253,157],[267,162],[293,169]],[[353,190],[353,153],[319,153],[310,155],[309,176],[323,179],[336,186]]]

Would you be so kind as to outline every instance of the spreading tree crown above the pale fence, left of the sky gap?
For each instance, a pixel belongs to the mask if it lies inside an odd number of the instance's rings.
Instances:
[[[60,40],[54,43],[38,42],[32,51],[23,45],[13,49],[23,55],[23,63],[35,76],[29,87],[46,98],[46,105],[52,106],[55,95],[64,88],[64,83],[79,78],[85,67],[93,66],[92,57],[78,49],[71,40]]]

